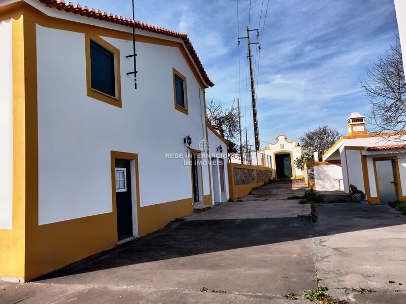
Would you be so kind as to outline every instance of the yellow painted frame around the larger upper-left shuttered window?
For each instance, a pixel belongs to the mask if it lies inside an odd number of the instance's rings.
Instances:
[[[115,60],[115,81],[116,81],[116,93],[117,96],[109,96],[102,92],[98,92],[92,88],[92,77],[91,77],[91,60],[90,60],[90,41],[94,41],[105,49],[109,50],[114,54]],[[121,72],[120,72],[120,50],[109,44],[106,40],[101,39],[98,35],[94,35],[89,32],[85,32],[85,54],[86,54],[86,88],[87,96],[104,101],[111,105],[121,108]]]

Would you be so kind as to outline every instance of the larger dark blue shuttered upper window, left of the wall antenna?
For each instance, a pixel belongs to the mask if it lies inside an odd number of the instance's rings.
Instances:
[[[114,53],[90,41],[92,89],[116,97]]]

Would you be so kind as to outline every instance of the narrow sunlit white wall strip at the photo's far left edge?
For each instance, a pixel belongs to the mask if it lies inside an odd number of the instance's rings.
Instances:
[[[0,229],[13,227],[13,67],[11,20],[0,21]]]

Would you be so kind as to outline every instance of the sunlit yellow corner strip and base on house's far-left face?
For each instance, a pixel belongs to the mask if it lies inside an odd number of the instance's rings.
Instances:
[[[26,134],[24,85],[24,17],[22,11],[4,12],[0,20],[12,19],[13,74],[13,210],[12,229],[0,230],[0,277],[25,277]]]

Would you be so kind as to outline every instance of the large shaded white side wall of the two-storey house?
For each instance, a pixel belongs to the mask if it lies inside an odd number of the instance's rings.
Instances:
[[[122,108],[87,97],[84,34],[37,25],[40,224],[112,212],[111,150],[138,154],[141,206],[192,197],[190,165],[165,159],[185,154],[188,134],[194,149],[206,139],[192,71],[178,48],[137,43],[134,90],[132,43],[104,39],[120,50]],[[174,108],[173,67],[187,78],[188,116]],[[209,195],[208,166],[202,183]]]

